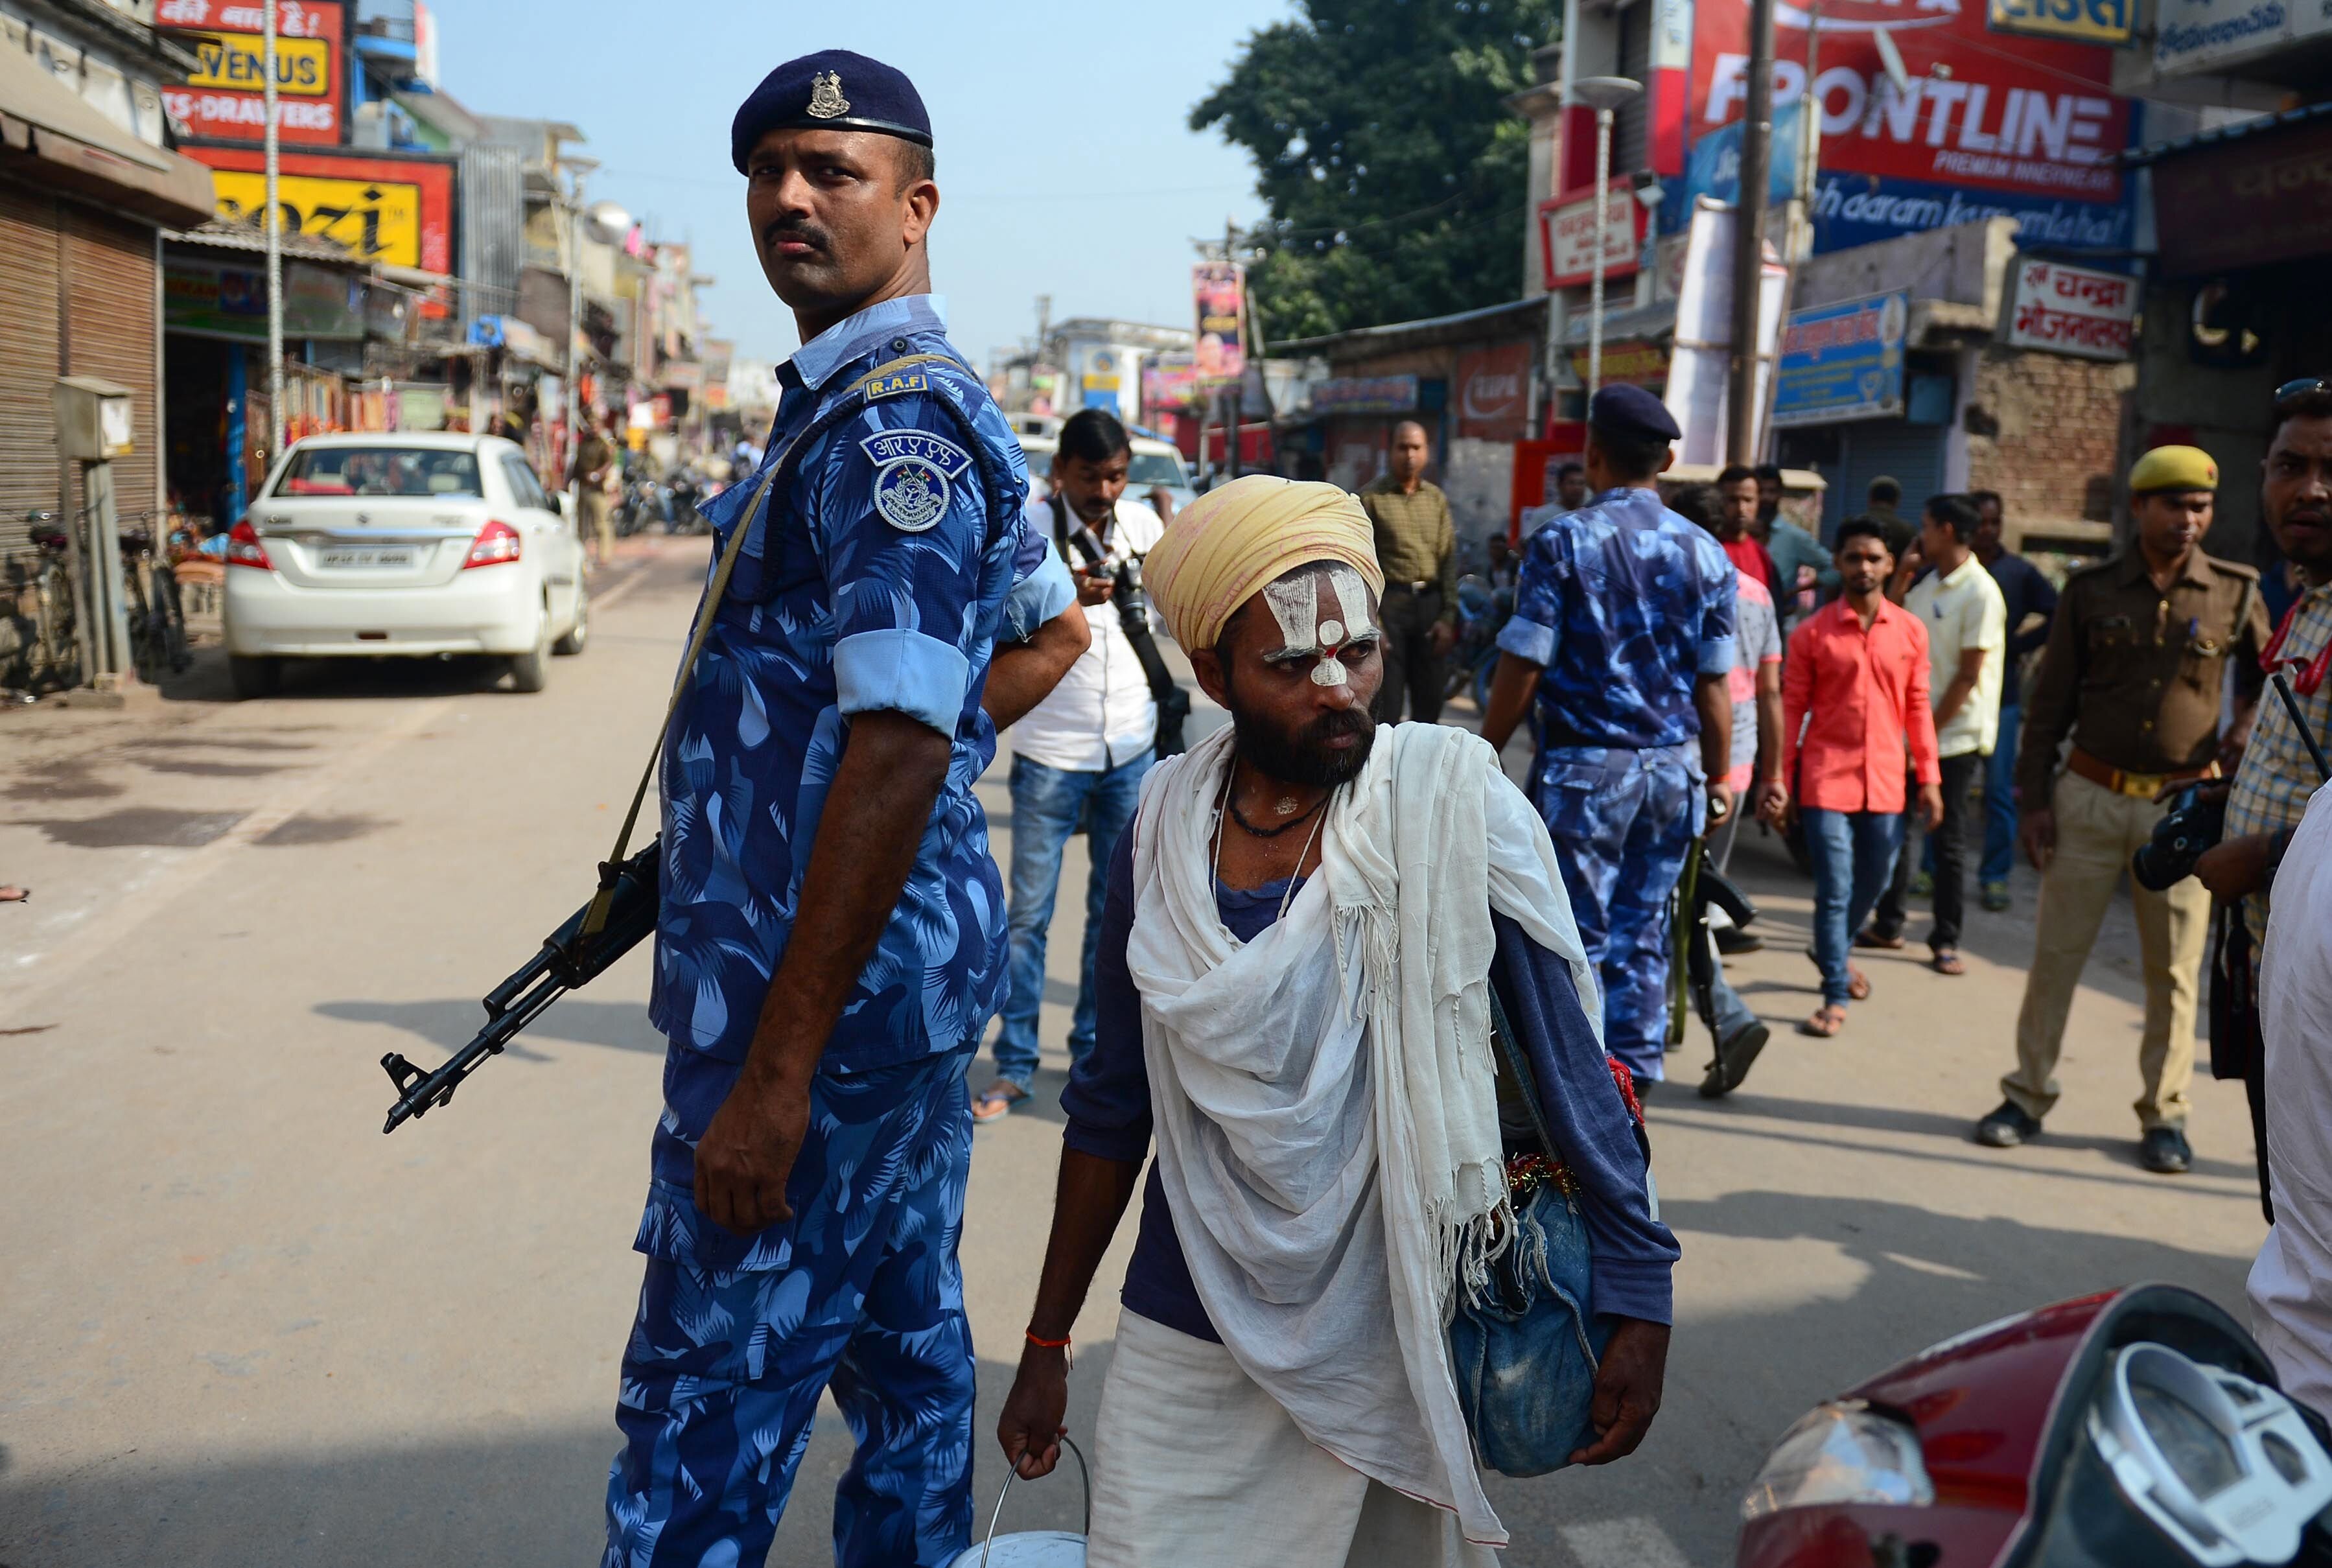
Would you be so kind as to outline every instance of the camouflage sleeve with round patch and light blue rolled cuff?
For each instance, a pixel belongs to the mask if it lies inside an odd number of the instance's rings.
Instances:
[[[963,721],[986,499],[961,434],[947,413],[902,401],[828,436],[809,516],[833,595],[844,719],[891,709],[949,737]]]

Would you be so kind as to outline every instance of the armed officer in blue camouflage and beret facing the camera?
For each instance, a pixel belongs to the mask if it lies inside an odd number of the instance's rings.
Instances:
[[[732,156],[802,348],[760,471],[707,509],[735,565],[665,735],[672,1045],[604,1563],[763,1563],[828,1388],[858,1440],[837,1563],[944,1563],[972,1503],[963,1073],[1005,980],[972,779],[1084,618],[930,294],[914,86],[793,61]]]

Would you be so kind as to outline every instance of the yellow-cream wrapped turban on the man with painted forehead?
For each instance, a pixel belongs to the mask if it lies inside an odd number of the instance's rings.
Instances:
[[[1185,651],[1213,649],[1234,609],[1315,560],[1343,562],[1369,593],[1385,593],[1376,527],[1353,492],[1248,474],[1173,513],[1143,562],[1143,581]]]

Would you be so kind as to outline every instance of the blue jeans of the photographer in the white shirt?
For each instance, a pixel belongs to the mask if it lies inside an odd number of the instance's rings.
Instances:
[[[1068,1022],[1068,1057],[1082,1062],[1094,1048],[1094,950],[1101,945],[1101,896],[1110,882],[1110,854],[1133,821],[1143,798],[1143,775],[1154,756],[1143,751],[1108,772],[1047,768],[1012,758],[1012,994],[996,1029],[996,1076],[1028,1087],[1035,1076],[1035,1020],[1045,1006],[1045,933],[1052,901],[1061,891],[1061,849],[1077,824],[1087,824],[1084,847],[1084,957],[1077,964],[1077,1010]]]

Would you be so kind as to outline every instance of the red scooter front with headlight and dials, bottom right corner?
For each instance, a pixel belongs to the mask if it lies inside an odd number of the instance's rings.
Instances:
[[[2332,1566],[2332,1428],[2176,1286],[1945,1339],[1807,1412],[1737,1568]]]

